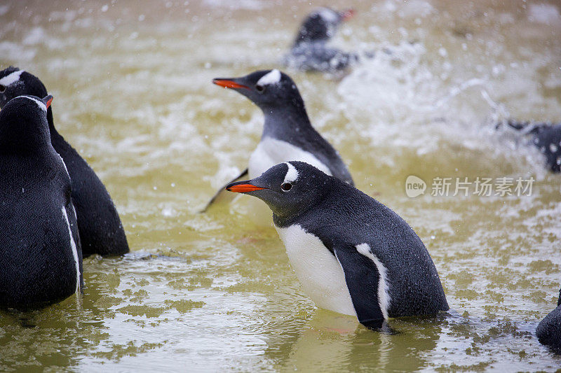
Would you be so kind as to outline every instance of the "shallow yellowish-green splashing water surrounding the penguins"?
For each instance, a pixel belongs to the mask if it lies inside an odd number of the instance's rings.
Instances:
[[[11,1],[0,4],[0,66],[46,84],[55,125],[107,185],[133,253],[85,260],[83,296],[1,314],[1,370],[561,366],[534,335],[561,282],[560,176],[494,130],[508,115],[561,120],[560,4],[353,6],[334,44],[376,57],[346,76],[287,72],[358,188],[423,239],[451,311],[372,332],[314,307],[276,232],[245,212],[250,197],[197,212],[262,129],[255,106],[210,81],[278,66],[309,1]],[[424,195],[407,197],[409,175],[428,183]],[[530,196],[471,185],[433,197],[437,176],[535,182]]]

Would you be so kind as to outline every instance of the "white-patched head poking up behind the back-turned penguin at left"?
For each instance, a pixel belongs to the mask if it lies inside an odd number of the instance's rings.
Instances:
[[[47,89],[39,78],[18,67],[10,66],[0,71],[0,108],[4,108],[11,99],[25,94],[45,97]]]

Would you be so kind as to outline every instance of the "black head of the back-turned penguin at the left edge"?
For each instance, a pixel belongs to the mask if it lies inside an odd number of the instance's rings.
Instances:
[[[41,151],[50,144],[47,108],[53,96],[19,96],[0,111],[0,153]]]

